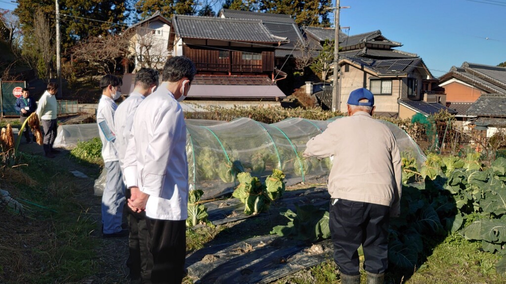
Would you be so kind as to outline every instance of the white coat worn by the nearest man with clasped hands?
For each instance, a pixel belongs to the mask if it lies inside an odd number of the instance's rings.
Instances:
[[[165,85],[137,108],[124,157],[126,184],[149,195],[146,216],[188,218],[188,162],[183,109]]]

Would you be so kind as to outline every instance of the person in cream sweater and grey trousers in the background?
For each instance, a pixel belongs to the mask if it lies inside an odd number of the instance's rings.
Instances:
[[[58,92],[57,83],[49,83],[46,91],[38,100],[37,115],[42,122],[44,128],[44,152],[46,157],[54,158],[55,154],[60,151],[53,149],[53,144],[56,139],[56,130],[58,128],[56,113],[58,105],[56,102],[56,93]]]

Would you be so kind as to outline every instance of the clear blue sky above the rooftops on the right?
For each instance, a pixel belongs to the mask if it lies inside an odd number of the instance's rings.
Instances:
[[[340,6],[351,7],[340,13],[350,35],[381,30],[436,77],[465,61],[506,61],[506,0],[341,0]]]

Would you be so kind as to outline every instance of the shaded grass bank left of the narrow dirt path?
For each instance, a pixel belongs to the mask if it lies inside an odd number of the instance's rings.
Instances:
[[[90,238],[96,227],[82,205],[80,184],[61,167],[20,153],[14,169],[2,168],[2,188],[25,207],[23,215],[0,208],[0,282],[76,283],[99,267]]]

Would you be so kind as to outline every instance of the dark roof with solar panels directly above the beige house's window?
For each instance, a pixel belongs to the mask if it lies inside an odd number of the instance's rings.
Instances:
[[[353,61],[356,64],[360,64],[378,75],[394,76],[411,73],[411,71],[414,68],[418,68],[420,62],[422,62],[420,58],[374,60],[361,57],[346,57],[345,59]]]

